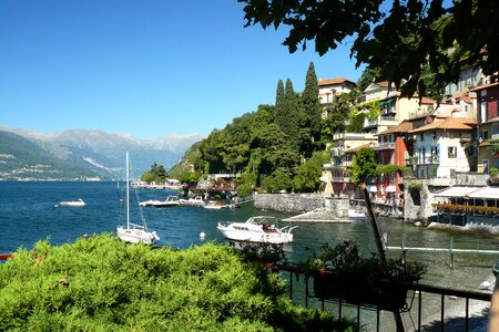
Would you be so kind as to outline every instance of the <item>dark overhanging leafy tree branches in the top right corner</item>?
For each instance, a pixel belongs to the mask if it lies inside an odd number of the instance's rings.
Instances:
[[[401,86],[403,95],[456,82],[464,66],[497,79],[499,1],[396,0],[388,10],[381,0],[238,1],[246,27],[289,27],[284,45],[292,53],[314,41],[323,55],[353,38],[356,65],[379,69],[378,79]],[[432,75],[422,77],[428,70]]]

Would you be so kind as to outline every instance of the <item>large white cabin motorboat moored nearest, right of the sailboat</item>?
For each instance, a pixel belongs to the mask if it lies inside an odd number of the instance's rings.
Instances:
[[[291,243],[293,242],[292,230],[298,226],[276,227],[276,218],[268,216],[251,217],[246,222],[218,222],[216,227],[222,235],[230,240]]]

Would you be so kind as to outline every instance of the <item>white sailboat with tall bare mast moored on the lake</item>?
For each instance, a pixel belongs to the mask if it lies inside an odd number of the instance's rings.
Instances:
[[[125,242],[130,243],[144,243],[153,245],[160,239],[155,231],[147,229],[145,220],[142,220],[142,225],[130,222],[130,178],[129,178],[129,153],[126,153],[126,227],[118,226],[118,237]]]

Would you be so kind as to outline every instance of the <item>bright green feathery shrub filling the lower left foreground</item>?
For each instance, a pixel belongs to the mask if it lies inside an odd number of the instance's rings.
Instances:
[[[242,282],[243,281],[243,282]],[[275,331],[289,322],[325,324],[285,299],[277,273],[233,248],[128,246],[103,235],[34,251],[0,264],[0,330]]]

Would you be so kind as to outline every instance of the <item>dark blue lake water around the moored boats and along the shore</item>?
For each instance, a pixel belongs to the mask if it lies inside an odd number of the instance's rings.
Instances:
[[[123,184],[122,184],[123,185]],[[164,199],[164,190],[139,190],[139,200]],[[136,197],[132,196],[133,221],[138,217]],[[83,208],[55,207],[61,200],[82,198]],[[74,241],[83,234],[114,234],[116,226],[124,222],[123,188],[116,183],[14,183],[0,181],[0,252],[12,252],[19,247],[32,249],[39,239],[49,238],[52,245]],[[206,241],[225,243],[216,230],[218,221],[243,221],[254,215],[284,215],[263,212],[253,204],[233,210],[207,210],[195,207],[143,208],[142,212],[151,229],[160,235],[160,246],[189,248]],[[499,249],[499,241],[480,236],[456,235],[445,231],[417,228],[399,220],[379,220],[383,231],[388,234],[389,246],[399,246],[403,237],[406,246],[447,247],[454,241],[456,248]],[[354,239],[365,253],[375,251],[373,236],[367,225],[299,222],[294,230],[295,242],[286,247],[292,261],[308,257],[320,243],[337,243]],[[206,237],[201,240],[198,234]],[[399,252],[390,256],[397,257]],[[450,269],[449,255],[410,253],[409,259],[424,260],[430,269],[425,278],[428,283],[477,289],[490,274],[490,268],[498,257],[461,255],[456,256],[456,268]]]

